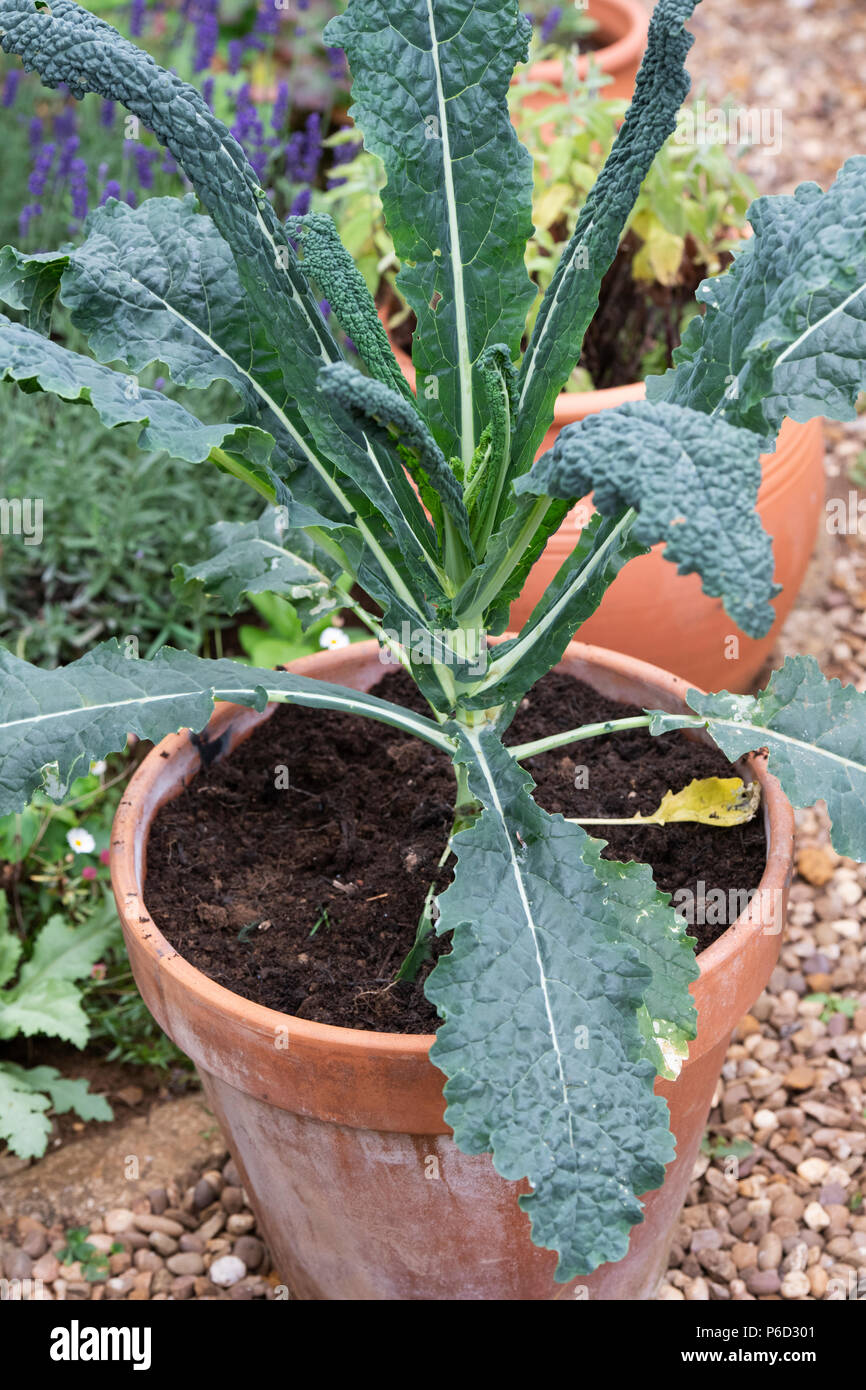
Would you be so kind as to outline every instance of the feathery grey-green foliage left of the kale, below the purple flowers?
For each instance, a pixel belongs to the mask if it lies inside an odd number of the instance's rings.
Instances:
[[[128,427],[107,435],[86,406],[49,396],[3,392],[0,434],[0,496],[43,507],[39,545],[3,537],[0,641],[47,666],[115,634],[145,656],[164,642],[218,653],[224,609],[175,596],[171,566],[203,560],[207,525],[229,509],[253,517],[261,499],[222,474],[203,489],[186,464],[138,453]]]

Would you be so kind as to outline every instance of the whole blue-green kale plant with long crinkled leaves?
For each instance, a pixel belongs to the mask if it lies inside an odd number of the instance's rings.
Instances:
[[[503,742],[527,689],[621,566],[653,543],[698,573],[744,631],[765,634],[776,587],[753,510],[760,453],[785,414],[851,418],[863,385],[866,160],[852,160],[826,193],[805,185],[760,199],[755,235],[702,286],[705,313],[671,373],[651,381],[651,399],[569,427],[535,461],[687,95],[692,10],[694,0],[660,0],[655,11],[634,101],[523,357],[535,289],[524,264],[531,158],[506,100],[527,53],[516,3],[403,0],[385,13],[352,0],[328,28],[349,57],[354,118],[388,170],[382,203],[417,318],[414,396],[332,228],[281,224],[193,89],[71,0],[0,0],[7,51],[49,85],[125,103],[199,197],[138,211],[108,203],[81,247],[7,249],[3,295],[28,321],[0,325],[0,370],[31,391],[89,400],[110,427],[136,423],[143,448],[210,460],[284,509],[272,573],[302,621],[321,602],[352,609],[338,582],[349,574],[379,610],[359,621],[431,710],[171,649],[143,660],[103,642],[60,671],[0,652],[0,810],[26,801],[46,767],[63,788],[131,728],[145,738],[202,728],[220,699],[345,710],[446,752],[456,867],[398,973],[417,969],[434,930],[450,934],[425,983],[443,1016],[431,1058],[448,1077],[448,1122],[464,1152],[489,1152],[503,1177],[528,1179],[520,1202],[537,1244],[559,1252],[562,1282],[626,1254],[639,1195],[674,1158],[653,1083],[676,1073],[695,1036],[698,970],[651,870],[602,859],[601,841],[544,812],[524,762],[619,728],[703,730],[728,759],[766,749],[796,805],[826,799],[837,851],[866,858],[866,696],[809,659],[785,662],[756,696],[689,691],[685,713]],[[366,373],[343,359],[321,296],[350,325]],[[93,357],[46,336],[57,297]],[[202,416],[150,389],[131,399],[113,361],[133,375],[163,363],[207,392]],[[209,417],[215,382],[235,391],[231,418]],[[574,552],[524,630],[488,651],[530,564],[588,492],[598,514]],[[235,589],[256,588],[260,559],[250,580],[238,562]]]

